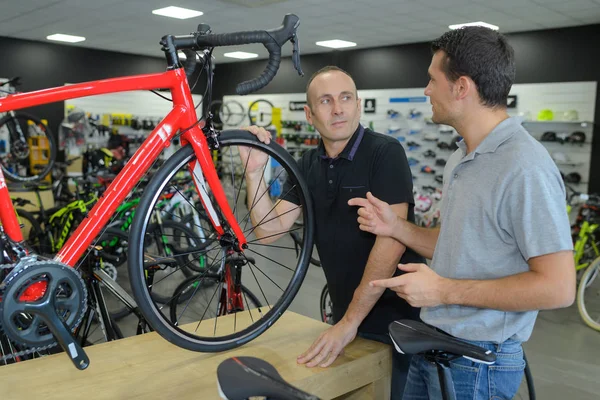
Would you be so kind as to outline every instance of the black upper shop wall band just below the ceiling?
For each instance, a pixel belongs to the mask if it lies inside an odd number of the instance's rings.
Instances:
[[[301,32],[300,32],[301,35]],[[511,34],[509,41],[517,57],[516,83],[600,81],[600,25]],[[0,77],[19,75],[22,90],[36,90],[112,76],[164,71],[157,46],[154,55],[139,56],[69,45],[0,37]],[[294,71],[291,59],[281,62],[280,72],[263,93],[303,92],[308,77],[320,67],[334,64],[350,72],[359,89],[415,88],[427,84],[430,62],[427,43],[366,50],[304,55],[305,77]],[[235,84],[258,76],[265,60],[218,64],[214,98],[235,93]],[[202,85],[194,91],[203,93]],[[600,96],[596,96],[594,136],[600,121]],[[37,107],[31,112],[49,120],[57,130],[64,113],[63,103]],[[594,140],[590,189],[600,191],[600,140]]]

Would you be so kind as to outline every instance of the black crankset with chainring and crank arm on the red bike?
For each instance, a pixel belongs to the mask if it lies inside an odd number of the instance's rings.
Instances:
[[[26,347],[58,340],[78,369],[87,368],[89,359],[71,335],[87,307],[87,290],[77,271],[53,261],[17,267],[0,295],[0,328],[10,340]]]

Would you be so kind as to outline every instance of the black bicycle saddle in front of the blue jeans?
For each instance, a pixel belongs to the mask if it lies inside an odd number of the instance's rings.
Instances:
[[[442,351],[485,364],[496,361],[491,350],[465,343],[422,322],[402,319],[392,322],[388,330],[394,347],[402,354]]]

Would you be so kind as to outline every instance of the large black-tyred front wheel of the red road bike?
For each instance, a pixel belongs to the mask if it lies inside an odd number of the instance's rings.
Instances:
[[[151,292],[171,290],[173,293],[181,281],[170,282],[170,276],[164,276],[159,281],[151,279],[149,282],[144,273],[143,259],[145,256],[153,256],[151,253],[148,254],[153,249],[152,246],[147,246],[148,241],[151,240],[151,235],[147,231],[151,227],[150,221],[161,212],[157,207],[161,195],[164,192],[183,193],[189,190],[189,187],[178,187],[182,182],[181,177],[189,176],[190,170],[197,174],[197,169],[193,168],[196,165],[196,156],[191,147],[186,146],[175,153],[153,176],[138,205],[130,232],[129,277],[144,317],[155,331],[170,342],[189,350],[204,352],[238,347],[253,340],[270,327],[287,309],[298,292],[306,275],[313,247],[314,220],[310,195],[296,161],[290,154],[274,141],[266,145],[251,133],[239,130],[222,132],[219,146],[220,156],[215,161],[216,169],[221,174],[221,184],[227,201],[246,236],[248,246],[243,252],[236,251],[232,244],[233,233],[220,215],[221,212],[215,202],[213,202],[214,210],[198,210],[199,213],[209,211],[218,215],[225,234],[219,237],[212,225],[210,229],[196,227],[203,230],[202,237],[200,235],[197,237],[202,246],[197,249],[190,248],[187,253],[192,259],[205,257],[207,260],[205,271],[200,274],[199,279],[205,278],[213,281],[214,284],[204,284],[199,281],[198,290],[191,293],[189,299],[186,298],[185,304],[178,306],[176,322],[171,321],[169,302],[157,304]],[[246,189],[247,182],[244,174],[246,165],[241,162],[239,146],[269,156],[262,158],[267,160],[263,165],[266,187],[260,186],[250,193]],[[281,166],[278,174],[270,177],[269,158],[275,159]],[[303,225],[276,231],[270,237],[270,241],[274,241],[273,244],[265,243],[269,241],[268,238],[263,238],[261,242],[256,238],[255,227],[252,226],[249,218],[248,209],[252,208],[253,204],[248,207],[247,196],[251,199],[272,196],[270,187],[284,171],[293,182],[290,191],[293,191],[295,197],[299,199],[300,204],[295,209],[302,211]],[[196,175],[196,179],[201,178]],[[209,188],[202,188],[209,190]],[[212,193],[206,194],[209,198],[212,196]],[[197,204],[190,200],[190,206],[198,207]],[[274,208],[271,208],[271,211],[273,210]],[[271,214],[271,211],[256,225],[277,220],[278,215]],[[172,217],[174,220],[178,218],[176,214]],[[303,243],[298,254],[296,254],[294,241],[289,235],[292,230],[298,232]],[[242,285],[255,293],[264,307],[259,307],[258,310],[247,309],[247,302],[242,301],[243,293],[240,290]],[[224,289],[227,291],[225,292]],[[208,302],[210,307],[206,307],[204,296],[198,295],[205,294],[206,291],[210,291],[209,299],[217,299]],[[231,304],[235,296],[237,296],[237,304]]]

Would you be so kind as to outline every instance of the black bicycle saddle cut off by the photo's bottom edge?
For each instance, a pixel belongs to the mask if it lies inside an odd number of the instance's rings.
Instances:
[[[255,357],[233,357],[217,368],[219,395],[225,400],[264,396],[274,400],[319,400],[283,380],[268,362]]]

